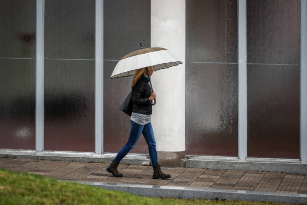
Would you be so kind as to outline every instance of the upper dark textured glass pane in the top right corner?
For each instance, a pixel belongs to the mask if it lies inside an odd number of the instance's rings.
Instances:
[[[299,64],[299,0],[247,1],[247,62]]]

